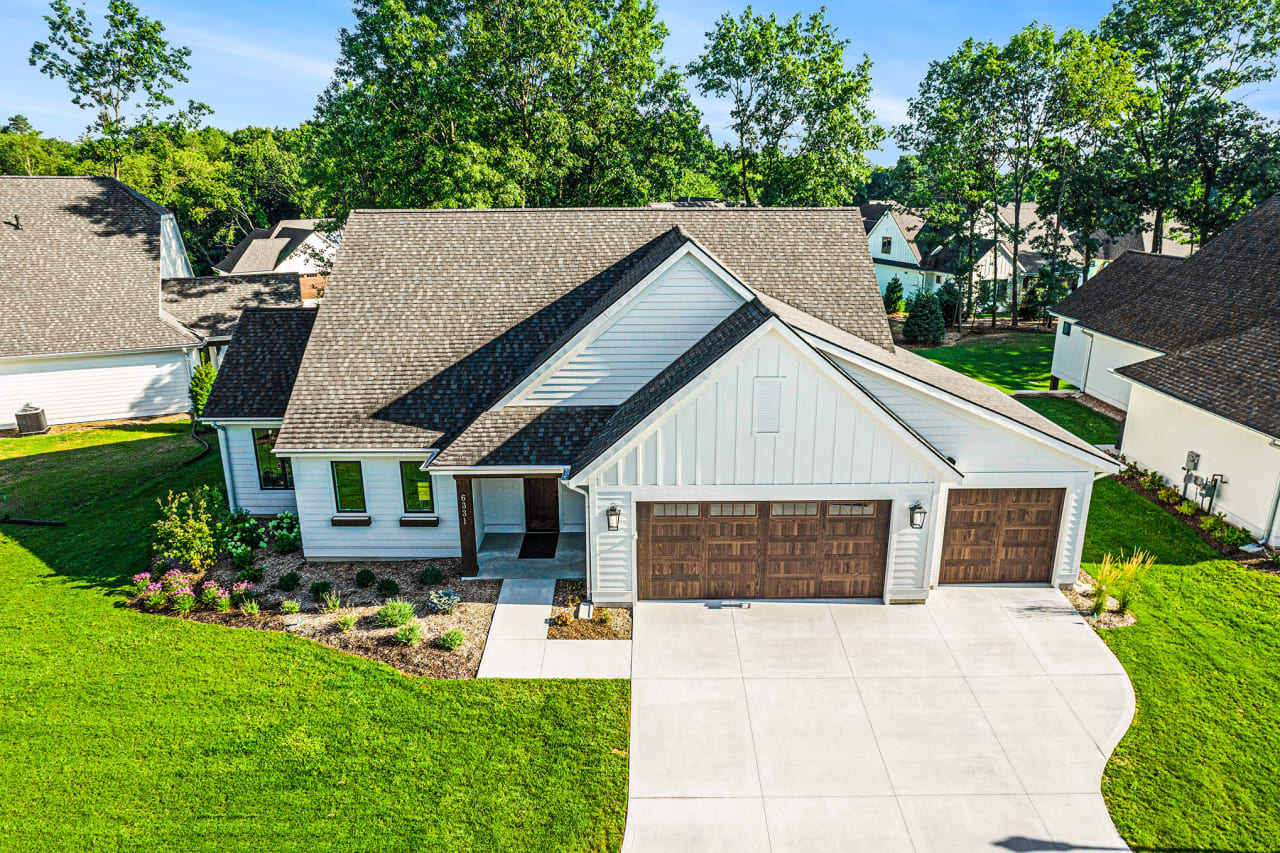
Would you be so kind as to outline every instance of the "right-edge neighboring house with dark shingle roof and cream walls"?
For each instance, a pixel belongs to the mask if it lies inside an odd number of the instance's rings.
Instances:
[[[1053,377],[1126,410],[1124,453],[1189,497],[1221,475],[1213,511],[1280,543],[1280,196],[1190,257],[1125,252],[1053,313]]]

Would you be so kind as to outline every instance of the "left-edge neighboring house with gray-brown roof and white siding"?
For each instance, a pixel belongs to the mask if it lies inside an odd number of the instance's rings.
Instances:
[[[28,402],[51,424],[187,411],[239,307],[219,302],[216,333],[188,325],[209,302],[168,293],[192,280],[173,214],[119,181],[0,177],[0,429]]]

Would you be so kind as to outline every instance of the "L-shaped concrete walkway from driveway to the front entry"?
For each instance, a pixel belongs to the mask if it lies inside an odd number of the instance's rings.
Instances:
[[[556,581],[502,581],[489,624],[481,679],[625,679],[631,675],[631,640],[548,640]]]

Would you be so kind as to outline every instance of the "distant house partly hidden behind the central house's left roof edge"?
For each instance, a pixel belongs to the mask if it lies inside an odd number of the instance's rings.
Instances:
[[[255,228],[214,265],[214,273],[297,273],[303,298],[319,298],[342,243],[340,231],[316,231],[321,222],[282,219],[270,228]]]

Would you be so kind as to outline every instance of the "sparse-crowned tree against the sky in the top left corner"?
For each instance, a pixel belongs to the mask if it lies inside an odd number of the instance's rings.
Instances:
[[[170,47],[164,24],[145,17],[128,0],[108,4],[106,29],[97,41],[83,6],[72,9],[67,0],[52,0],[49,8],[49,41],[31,46],[29,61],[50,78],[64,81],[72,104],[93,110],[88,132],[100,137],[111,175],[119,178],[131,128],[173,105],[169,90],[187,82],[191,49]],[[209,108],[192,102],[188,111],[207,114]]]

